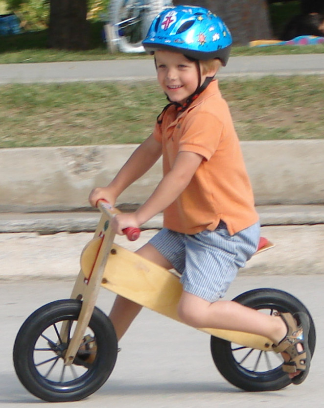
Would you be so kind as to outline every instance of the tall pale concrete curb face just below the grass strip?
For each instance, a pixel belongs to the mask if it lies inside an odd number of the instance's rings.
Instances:
[[[84,211],[137,145],[0,149],[0,212]],[[241,142],[257,206],[324,205],[324,140]],[[159,161],[117,204],[142,203],[161,179]]]

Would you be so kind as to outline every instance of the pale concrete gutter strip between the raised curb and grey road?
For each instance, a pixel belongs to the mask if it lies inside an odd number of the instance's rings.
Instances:
[[[156,232],[142,231],[137,241],[116,236],[115,242],[135,251]],[[240,275],[324,274],[323,224],[264,226],[261,235],[275,248],[252,257]],[[80,269],[82,249],[92,238],[89,232],[0,234],[0,280],[73,279]]]

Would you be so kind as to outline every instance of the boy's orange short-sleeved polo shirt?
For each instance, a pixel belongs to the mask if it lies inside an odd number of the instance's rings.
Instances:
[[[258,220],[251,183],[226,101],[212,81],[185,112],[171,105],[153,135],[162,143],[163,174],[178,152],[203,161],[180,196],[164,210],[164,227],[184,234],[213,231],[223,220],[231,235]]]

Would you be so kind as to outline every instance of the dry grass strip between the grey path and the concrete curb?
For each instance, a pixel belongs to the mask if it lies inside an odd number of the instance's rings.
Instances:
[[[241,140],[323,139],[324,78],[222,80]],[[4,85],[0,147],[140,143],[166,100],[155,82]]]

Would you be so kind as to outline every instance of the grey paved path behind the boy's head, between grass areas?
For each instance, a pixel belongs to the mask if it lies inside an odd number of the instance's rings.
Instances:
[[[324,74],[324,54],[231,57],[218,77]],[[152,60],[0,64],[0,84],[154,79]]]

